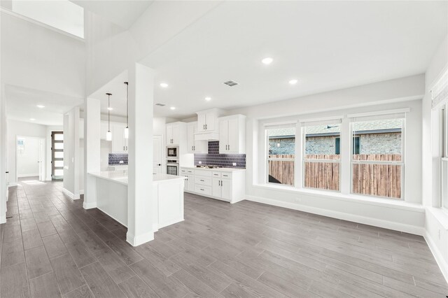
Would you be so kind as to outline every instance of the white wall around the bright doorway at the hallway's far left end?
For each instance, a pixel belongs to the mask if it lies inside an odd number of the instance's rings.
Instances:
[[[8,136],[8,182],[10,185],[17,184],[16,176],[16,143],[17,136],[34,136],[37,138],[46,138],[47,127],[29,122],[16,120],[8,120],[7,136]],[[51,159],[45,159],[45,163]]]

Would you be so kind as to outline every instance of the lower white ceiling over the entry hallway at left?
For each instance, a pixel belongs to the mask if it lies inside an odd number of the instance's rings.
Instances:
[[[5,97],[8,119],[41,125],[62,125],[64,113],[83,104],[80,98],[12,85],[6,85]]]

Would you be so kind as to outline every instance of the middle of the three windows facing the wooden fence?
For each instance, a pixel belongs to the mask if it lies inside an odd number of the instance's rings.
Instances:
[[[303,185],[322,190],[340,187],[340,120],[304,122]]]

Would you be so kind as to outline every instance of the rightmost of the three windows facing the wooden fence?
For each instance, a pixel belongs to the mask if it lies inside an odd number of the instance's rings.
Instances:
[[[402,198],[405,114],[351,122],[351,192]]]

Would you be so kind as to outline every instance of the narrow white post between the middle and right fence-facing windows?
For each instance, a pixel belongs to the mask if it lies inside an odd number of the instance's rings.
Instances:
[[[341,148],[341,193],[349,194],[351,192],[351,131],[350,131],[350,120],[348,118],[343,118],[341,123],[341,141],[339,142]]]

